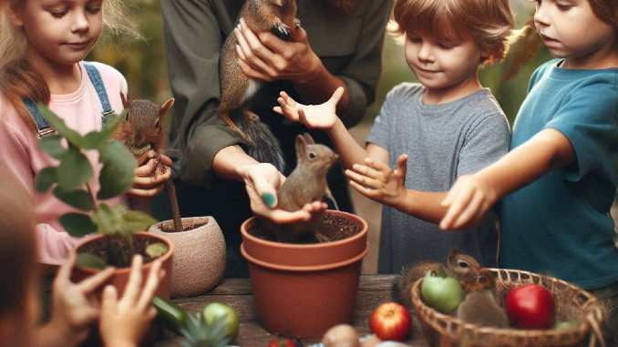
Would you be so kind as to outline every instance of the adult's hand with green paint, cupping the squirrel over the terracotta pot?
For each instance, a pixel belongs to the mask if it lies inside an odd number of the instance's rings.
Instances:
[[[250,165],[241,169],[245,188],[253,213],[278,224],[294,223],[311,219],[312,215],[324,212],[327,205],[321,201],[304,205],[298,211],[289,212],[277,207],[277,191],[285,177],[277,168],[267,163]]]

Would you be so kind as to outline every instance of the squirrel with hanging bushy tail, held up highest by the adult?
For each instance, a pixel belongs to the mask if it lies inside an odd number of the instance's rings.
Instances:
[[[292,35],[291,28],[296,30],[300,27],[300,21],[296,18],[296,0],[247,0],[242,5],[240,16],[254,33],[272,31],[283,39]],[[238,39],[231,34],[221,49],[221,100],[217,113],[228,127],[247,142],[249,156],[259,162],[271,163],[283,172],[285,162],[279,141],[260,117],[247,108],[262,81],[242,73],[236,45]]]

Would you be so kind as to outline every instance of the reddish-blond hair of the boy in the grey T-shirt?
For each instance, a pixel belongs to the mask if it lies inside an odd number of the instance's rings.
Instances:
[[[488,55],[502,60],[514,40],[509,0],[396,0],[388,31],[397,36],[427,34],[442,41],[471,37]]]

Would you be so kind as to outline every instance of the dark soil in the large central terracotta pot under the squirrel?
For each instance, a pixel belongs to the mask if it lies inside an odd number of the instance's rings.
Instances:
[[[318,232],[320,234],[319,237],[316,237],[316,234],[311,233],[305,235],[305,237],[297,243],[311,244],[344,240],[356,235],[361,230],[361,225],[350,223],[350,220],[346,219],[344,216],[324,213],[322,224],[318,228]],[[252,230],[249,230],[249,233],[252,236],[262,240],[276,241],[271,235],[260,228],[260,223],[255,223]]]

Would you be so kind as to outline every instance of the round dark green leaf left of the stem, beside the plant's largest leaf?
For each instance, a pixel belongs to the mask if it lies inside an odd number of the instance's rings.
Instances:
[[[73,190],[86,184],[92,177],[92,166],[82,152],[70,147],[60,158],[56,176],[58,186],[64,190]]]

